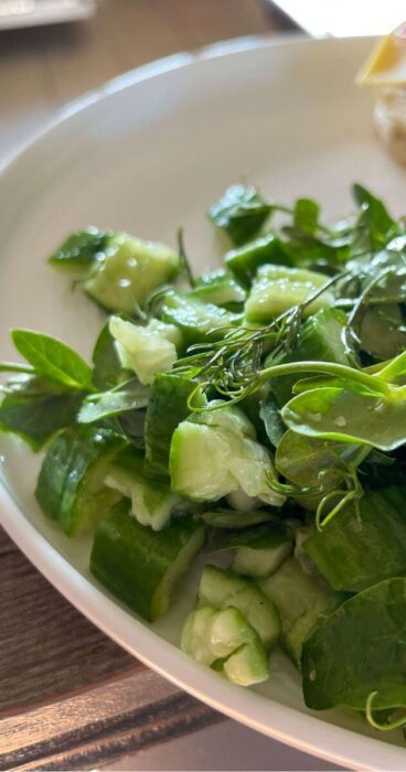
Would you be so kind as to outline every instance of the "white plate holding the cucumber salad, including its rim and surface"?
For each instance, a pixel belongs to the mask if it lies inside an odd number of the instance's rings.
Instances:
[[[214,262],[204,217],[223,189],[248,176],[271,199],[314,195],[328,216],[350,207],[359,180],[395,212],[405,173],[376,146],[370,95],[353,75],[368,41],[250,39],[184,54],[107,84],[65,109],[0,176],[0,351],[11,326],[58,335],[88,355],[101,317],[44,258],[71,229],[94,223],[174,242],[185,227],[200,268]],[[32,491],[39,459],[10,438],[1,522],[35,566],[108,635],[200,699],[259,731],[338,764],[400,770],[406,749],[343,712],[313,714],[280,656],[266,686],[239,689],[172,643],[193,588],[153,630],[93,581],[88,543],[47,522]],[[376,738],[376,736],[375,736]]]

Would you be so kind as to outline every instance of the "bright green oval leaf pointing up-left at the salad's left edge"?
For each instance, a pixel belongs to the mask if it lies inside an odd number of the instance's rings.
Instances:
[[[31,330],[13,330],[11,337],[38,375],[68,388],[92,390],[89,365],[62,341]]]

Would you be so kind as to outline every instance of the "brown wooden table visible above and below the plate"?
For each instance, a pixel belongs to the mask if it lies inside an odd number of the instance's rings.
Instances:
[[[289,25],[260,0],[100,0],[0,33],[0,165],[67,100],[182,50]],[[0,770],[93,769],[221,720],[82,616],[0,529]]]

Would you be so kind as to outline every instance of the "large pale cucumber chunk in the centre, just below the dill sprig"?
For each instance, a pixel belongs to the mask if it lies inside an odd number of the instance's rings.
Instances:
[[[172,437],[170,472],[172,490],[197,501],[243,490],[267,504],[284,502],[268,484],[270,453],[256,442],[253,425],[236,407],[224,405],[182,421]]]

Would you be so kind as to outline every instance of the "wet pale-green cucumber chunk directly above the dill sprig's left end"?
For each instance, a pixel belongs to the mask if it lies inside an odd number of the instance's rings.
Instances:
[[[242,320],[242,314],[205,303],[191,293],[171,292],[164,298],[161,318],[168,324],[174,324],[189,345],[224,337],[227,330]]]

